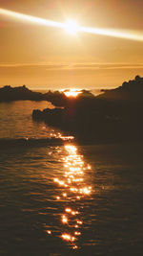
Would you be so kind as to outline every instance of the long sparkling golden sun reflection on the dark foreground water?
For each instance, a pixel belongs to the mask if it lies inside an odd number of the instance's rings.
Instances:
[[[78,239],[82,235],[82,212],[78,207],[79,200],[90,197],[92,186],[86,184],[85,174],[91,170],[91,166],[83,160],[83,155],[77,152],[74,145],[65,145],[66,156],[62,159],[64,173],[62,178],[54,177],[53,181],[62,188],[57,200],[63,198],[65,207],[61,213],[61,223],[63,224],[61,239],[77,249]],[[79,208],[79,209],[77,209]]]

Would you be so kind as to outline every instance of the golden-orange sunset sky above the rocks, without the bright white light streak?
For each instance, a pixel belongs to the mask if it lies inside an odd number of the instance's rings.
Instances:
[[[143,34],[142,0],[0,0],[0,8]],[[0,15],[0,86],[112,88],[143,76],[143,41],[42,27]]]

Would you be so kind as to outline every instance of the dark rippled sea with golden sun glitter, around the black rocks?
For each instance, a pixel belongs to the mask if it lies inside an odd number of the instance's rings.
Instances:
[[[0,255],[143,255],[143,145],[78,145],[46,107],[0,103]]]

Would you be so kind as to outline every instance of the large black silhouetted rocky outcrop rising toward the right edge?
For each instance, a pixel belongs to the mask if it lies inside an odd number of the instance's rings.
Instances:
[[[34,109],[33,120],[68,131],[84,143],[143,141],[143,78],[136,76],[96,97],[88,91],[75,99],[53,95],[49,101],[58,107]]]

